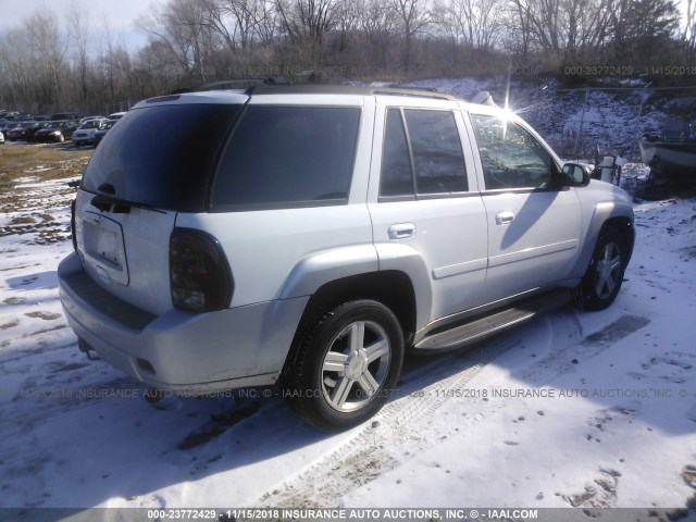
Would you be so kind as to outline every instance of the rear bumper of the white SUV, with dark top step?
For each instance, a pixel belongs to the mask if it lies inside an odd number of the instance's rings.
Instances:
[[[150,386],[190,394],[275,383],[309,299],[154,316],[103,290],[76,253],[60,263],[58,279],[71,327],[103,360]]]

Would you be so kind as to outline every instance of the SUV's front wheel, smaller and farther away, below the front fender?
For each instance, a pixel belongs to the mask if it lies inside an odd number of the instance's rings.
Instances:
[[[614,301],[623,282],[627,252],[626,240],[619,231],[609,226],[602,228],[587,272],[576,288],[581,308],[604,310]]]

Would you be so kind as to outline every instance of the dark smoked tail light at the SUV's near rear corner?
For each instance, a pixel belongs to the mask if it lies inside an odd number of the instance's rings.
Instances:
[[[170,237],[172,303],[182,310],[210,312],[229,304],[233,279],[217,240],[189,228]]]

